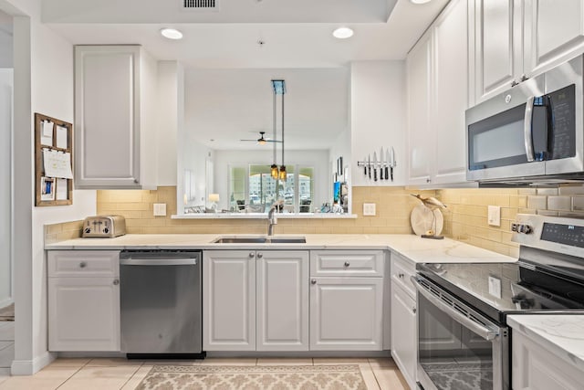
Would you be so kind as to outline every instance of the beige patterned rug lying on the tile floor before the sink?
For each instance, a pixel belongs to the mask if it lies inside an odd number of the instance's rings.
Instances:
[[[366,390],[359,365],[155,365],[136,390]]]

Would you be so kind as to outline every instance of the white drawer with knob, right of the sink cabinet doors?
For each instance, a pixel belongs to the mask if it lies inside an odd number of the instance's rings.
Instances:
[[[310,276],[382,277],[382,250],[313,250]]]

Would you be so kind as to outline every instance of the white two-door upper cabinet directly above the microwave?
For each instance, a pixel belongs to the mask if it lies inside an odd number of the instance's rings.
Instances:
[[[479,103],[584,52],[583,0],[475,0]]]

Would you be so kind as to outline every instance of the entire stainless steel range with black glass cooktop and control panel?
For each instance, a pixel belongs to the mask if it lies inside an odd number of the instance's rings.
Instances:
[[[584,312],[584,220],[517,215],[509,262],[417,264],[424,390],[508,390],[509,314]]]

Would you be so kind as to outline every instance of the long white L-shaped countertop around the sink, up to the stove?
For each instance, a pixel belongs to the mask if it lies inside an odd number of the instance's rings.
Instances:
[[[115,238],[76,238],[47,244],[45,249],[390,249],[414,262],[515,262],[516,258],[477,248],[450,238],[427,239],[415,235],[308,234],[306,244],[215,244],[228,234],[129,234]]]

